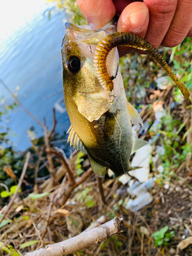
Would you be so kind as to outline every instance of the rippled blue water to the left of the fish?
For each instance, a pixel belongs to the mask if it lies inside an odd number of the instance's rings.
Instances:
[[[40,122],[46,118],[49,129],[53,124],[54,103],[62,97],[60,47],[65,33],[62,19],[63,14],[59,13],[53,14],[50,20],[47,14],[41,14],[0,48],[0,51],[4,48],[0,52],[1,79]],[[0,95],[8,102],[13,101],[2,84]],[[56,111],[56,119],[56,132],[63,134],[70,126],[67,112]],[[4,122],[10,128],[9,138],[17,150],[31,146],[24,130],[28,132],[34,126],[37,137],[43,134],[42,127],[20,106],[10,113],[9,122]]]

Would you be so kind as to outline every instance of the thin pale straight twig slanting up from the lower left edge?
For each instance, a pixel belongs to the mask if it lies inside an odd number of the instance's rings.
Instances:
[[[30,152],[27,153],[26,161],[25,161],[25,164],[24,164],[24,167],[23,167],[23,170],[22,170],[22,175],[20,176],[20,179],[19,179],[17,188],[15,190],[15,193],[13,194],[13,196],[12,196],[12,198],[11,198],[7,208],[5,209],[5,212],[4,212],[4,214],[3,214],[3,216],[2,216],[2,218],[0,220],[0,224],[2,223],[2,221],[5,219],[6,215],[8,214],[9,209],[11,208],[12,204],[14,203],[14,201],[15,201],[15,199],[17,197],[18,190],[22,186],[22,183],[23,183],[26,171],[27,171],[27,166],[28,166],[28,163],[29,163],[30,154],[31,154]]]

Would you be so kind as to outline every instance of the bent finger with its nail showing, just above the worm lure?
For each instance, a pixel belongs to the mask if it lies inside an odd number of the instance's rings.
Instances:
[[[144,3],[135,2],[124,8],[122,11],[118,24],[117,31],[129,32],[141,37],[145,37],[149,22],[148,8]],[[133,48],[119,48],[119,55],[123,56],[133,51]]]

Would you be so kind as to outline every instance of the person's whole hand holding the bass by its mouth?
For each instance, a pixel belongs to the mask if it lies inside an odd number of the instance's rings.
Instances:
[[[192,36],[192,1],[186,0],[77,0],[92,29],[100,29],[115,13],[120,15],[117,31],[131,32],[160,45],[175,47]],[[120,55],[130,52],[125,50]]]

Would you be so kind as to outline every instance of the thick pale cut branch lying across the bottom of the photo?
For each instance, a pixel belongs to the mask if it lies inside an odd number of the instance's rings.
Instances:
[[[74,238],[56,243],[54,245],[48,245],[44,249],[28,252],[26,256],[69,255],[75,251],[81,250],[93,244],[99,245],[102,241],[110,238],[114,234],[119,234],[123,231],[123,219],[115,217],[113,220],[89,231],[84,231]]]

